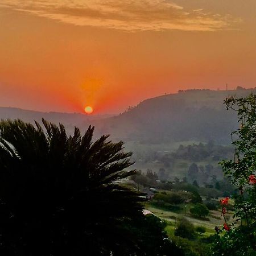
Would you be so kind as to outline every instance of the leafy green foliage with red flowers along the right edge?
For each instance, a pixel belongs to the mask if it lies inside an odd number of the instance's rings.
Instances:
[[[225,219],[224,236],[217,229],[214,243],[215,255],[255,255],[256,254],[256,95],[246,98],[230,97],[225,100],[227,109],[238,114],[240,129],[232,133],[235,147],[234,159],[223,161],[225,175],[236,185],[239,193],[234,195],[234,221]],[[222,207],[222,214],[226,211]],[[225,214],[223,214],[225,217]],[[234,225],[236,224],[236,225]],[[234,226],[233,226],[234,225]]]

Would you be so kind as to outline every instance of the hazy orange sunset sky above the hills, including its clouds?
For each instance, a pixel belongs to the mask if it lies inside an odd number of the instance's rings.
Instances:
[[[256,86],[255,0],[1,0],[0,106],[119,113]]]

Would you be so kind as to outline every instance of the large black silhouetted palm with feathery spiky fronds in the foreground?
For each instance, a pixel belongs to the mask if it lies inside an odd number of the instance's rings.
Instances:
[[[144,255],[142,197],[117,182],[131,152],[42,122],[0,122],[1,255]]]

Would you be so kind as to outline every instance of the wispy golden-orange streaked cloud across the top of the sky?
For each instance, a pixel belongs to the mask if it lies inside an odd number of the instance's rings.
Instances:
[[[168,0],[1,0],[0,7],[76,26],[124,31],[217,31],[236,28],[241,22],[230,15],[186,10]]]

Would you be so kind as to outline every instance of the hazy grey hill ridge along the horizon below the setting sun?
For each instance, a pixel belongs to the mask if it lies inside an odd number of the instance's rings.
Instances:
[[[236,94],[245,97],[254,89],[213,91],[185,90],[142,101],[114,117],[85,114],[43,113],[15,108],[0,108],[1,119],[20,118],[32,122],[43,118],[64,123],[71,132],[76,125],[85,130],[96,126],[96,135],[111,134],[113,139],[147,144],[216,141],[230,143],[230,133],[238,127],[236,113],[227,111],[223,101]]]

